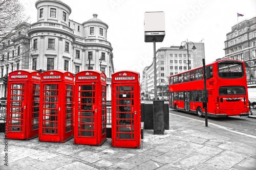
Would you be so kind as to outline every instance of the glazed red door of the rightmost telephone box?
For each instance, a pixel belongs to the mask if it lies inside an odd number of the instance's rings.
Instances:
[[[135,148],[137,146],[137,108],[136,103],[135,83],[114,84],[114,102],[116,107],[114,109],[114,147],[129,147]],[[113,123],[112,123],[113,125]]]

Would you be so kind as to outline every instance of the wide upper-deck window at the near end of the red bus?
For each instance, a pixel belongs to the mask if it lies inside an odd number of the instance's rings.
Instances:
[[[223,79],[239,79],[244,76],[243,63],[240,61],[222,61],[218,63],[218,75]]]

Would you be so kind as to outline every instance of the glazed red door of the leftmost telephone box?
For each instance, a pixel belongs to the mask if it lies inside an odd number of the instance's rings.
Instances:
[[[8,138],[12,138],[12,135],[15,135],[16,139],[24,139],[26,131],[26,98],[27,98],[27,82],[20,81],[9,83],[10,89],[8,94],[10,94],[9,101],[7,104],[10,104],[9,110],[9,123],[8,123]],[[15,132],[15,133],[11,133]],[[20,133],[18,133],[20,132]]]

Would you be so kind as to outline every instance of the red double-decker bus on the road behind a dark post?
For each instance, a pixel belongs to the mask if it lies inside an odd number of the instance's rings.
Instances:
[[[248,90],[244,62],[220,60],[206,65],[207,112],[210,117],[248,116]],[[205,115],[203,67],[169,78],[169,108]]]

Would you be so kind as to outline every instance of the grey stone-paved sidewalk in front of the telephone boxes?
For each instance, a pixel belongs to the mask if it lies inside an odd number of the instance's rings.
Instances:
[[[8,166],[0,143],[0,169],[256,169],[256,136],[169,114],[170,130],[145,130],[140,149],[32,140],[8,140]],[[0,133],[5,141],[4,133]]]

